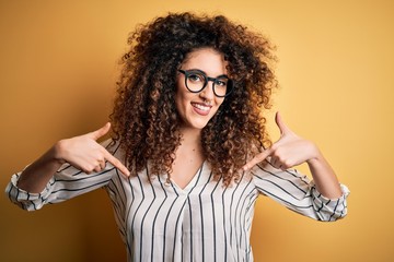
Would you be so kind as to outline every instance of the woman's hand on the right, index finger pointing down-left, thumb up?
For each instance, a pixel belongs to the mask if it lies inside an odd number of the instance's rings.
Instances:
[[[286,170],[304,162],[310,162],[318,155],[317,147],[291,131],[282,121],[279,112],[276,114],[275,121],[280,130],[279,140],[246,163],[243,170],[246,171],[267,158],[275,168]]]

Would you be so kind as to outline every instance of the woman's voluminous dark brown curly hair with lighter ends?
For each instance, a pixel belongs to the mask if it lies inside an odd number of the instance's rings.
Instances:
[[[237,170],[270,144],[263,116],[277,86],[269,40],[222,15],[169,13],[139,25],[128,44],[111,120],[131,175],[149,162],[150,176],[171,176],[182,139],[176,71],[189,52],[208,47],[224,56],[234,90],[202,129],[202,152],[216,179],[239,181]]]

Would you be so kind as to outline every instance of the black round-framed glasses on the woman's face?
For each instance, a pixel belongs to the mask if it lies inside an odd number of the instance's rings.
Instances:
[[[201,92],[208,84],[209,81],[212,81],[213,94],[217,97],[228,96],[233,90],[233,81],[227,75],[219,75],[218,78],[209,78],[201,70],[178,70],[185,75],[185,85],[186,88],[192,93]]]

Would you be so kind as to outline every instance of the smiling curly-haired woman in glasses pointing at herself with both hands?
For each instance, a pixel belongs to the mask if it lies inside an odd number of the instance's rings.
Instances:
[[[267,195],[320,221],[348,190],[312,142],[263,110],[276,80],[269,41],[223,16],[169,14],[129,38],[111,124],[56,143],[12,177],[37,210],[105,188],[129,261],[253,261],[254,204]],[[289,169],[308,163],[313,180]]]

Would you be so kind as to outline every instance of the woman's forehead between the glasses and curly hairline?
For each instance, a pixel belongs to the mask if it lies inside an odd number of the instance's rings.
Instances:
[[[189,52],[182,63],[182,69],[199,69],[208,75],[220,75],[227,73],[228,62],[223,53],[212,48],[201,48]]]

